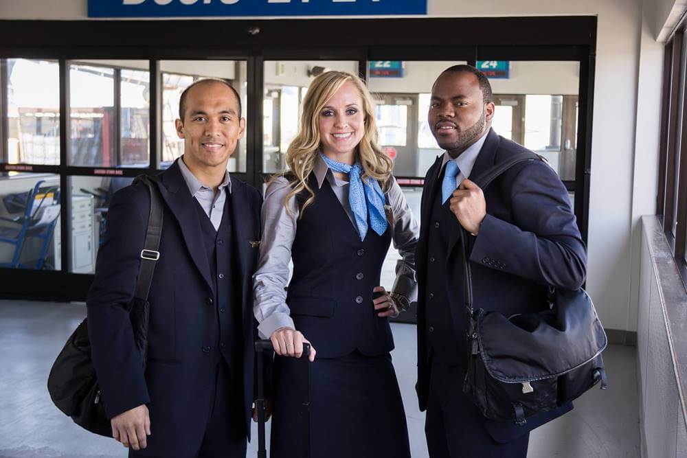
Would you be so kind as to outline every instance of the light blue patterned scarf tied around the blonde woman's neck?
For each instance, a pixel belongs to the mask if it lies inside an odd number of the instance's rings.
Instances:
[[[370,210],[370,225],[372,230],[380,236],[386,231],[387,220],[384,213],[384,193],[379,183],[374,179],[361,179],[363,168],[359,162],[354,165],[333,161],[324,154],[319,153],[324,162],[334,172],[348,174],[349,190],[348,203],[355,216],[355,224],[358,227],[360,240],[365,240],[368,233],[368,209]],[[370,204],[370,205],[368,205]]]

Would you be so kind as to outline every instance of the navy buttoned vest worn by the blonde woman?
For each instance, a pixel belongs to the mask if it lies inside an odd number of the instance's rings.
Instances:
[[[354,350],[368,356],[390,352],[394,340],[389,320],[377,317],[372,288],[380,286],[392,226],[382,236],[370,228],[361,241],[329,182],[319,188],[314,174],[308,180],[315,199],[297,220],[286,298],[295,327],[318,358]],[[298,196],[300,207],[305,198]]]

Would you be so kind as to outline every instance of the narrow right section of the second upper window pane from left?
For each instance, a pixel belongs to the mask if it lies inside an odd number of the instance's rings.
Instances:
[[[150,163],[150,73],[123,69],[120,88],[122,150],[119,165],[146,167]]]

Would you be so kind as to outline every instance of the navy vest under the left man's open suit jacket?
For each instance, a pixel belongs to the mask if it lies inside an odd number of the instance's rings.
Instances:
[[[212,306],[212,313],[216,317],[216,325],[212,329],[214,335],[209,339],[210,342],[214,342],[214,347],[204,347],[203,351],[212,352],[216,363],[223,357],[231,369],[239,368],[240,370],[243,331],[240,327],[239,307],[234,307],[234,304],[240,304],[240,301],[234,295],[237,288],[234,286],[234,275],[232,275],[234,250],[232,248],[231,195],[227,192],[222,222],[217,230],[205,214],[203,207],[195,198],[193,200],[196,203],[203,234],[203,247],[205,247],[207,262],[210,265],[214,287],[214,299],[209,305]]]

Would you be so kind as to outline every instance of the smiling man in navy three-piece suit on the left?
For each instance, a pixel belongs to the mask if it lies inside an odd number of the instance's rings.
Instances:
[[[238,93],[201,80],[181,95],[183,157],[155,177],[164,201],[145,372],[126,310],[150,194],[117,192],[87,299],[93,364],[113,437],[130,456],[245,457],[254,400],[252,275],[260,194],[229,176],[245,131]]]

